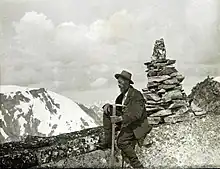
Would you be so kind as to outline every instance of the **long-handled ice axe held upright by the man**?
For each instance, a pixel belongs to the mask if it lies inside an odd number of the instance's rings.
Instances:
[[[122,104],[113,104],[112,116],[116,116],[116,107],[126,107]],[[115,123],[112,123],[112,148],[111,148],[111,160],[110,168],[114,167],[114,148],[115,148]]]

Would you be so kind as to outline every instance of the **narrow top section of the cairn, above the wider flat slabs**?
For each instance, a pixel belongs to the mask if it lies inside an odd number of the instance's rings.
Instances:
[[[164,39],[160,38],[154,43],[154,49],[152,54],[152,60],[165,60],[166,59],[166,48]]]

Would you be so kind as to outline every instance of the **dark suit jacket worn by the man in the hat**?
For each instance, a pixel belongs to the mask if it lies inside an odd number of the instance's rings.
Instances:
[[[121,98],[122,95],[120,94],[115,103],[121,104]],[[121,127],[131,128],[137,140],[145,137],[152,129],[148,123],[145,102],[141,92],[131,86],[124,102],[126,107],[117,108],[117,111],[122,112]]]

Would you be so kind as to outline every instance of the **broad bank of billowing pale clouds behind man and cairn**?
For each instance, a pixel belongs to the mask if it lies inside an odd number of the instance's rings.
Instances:
[[[146,78],[143,63],[161,37],[184,75],[219,74],[214,3],[169,2],[152,2],[138,12],[122,9],[91,24],[55,24],[43,13],[27,12],[13,24],[16,34],[1,56],[1,82],[84,90],[113,84],[113,74],[122,69],[141,81]],[[215,67],[207,66],[213,60]]]

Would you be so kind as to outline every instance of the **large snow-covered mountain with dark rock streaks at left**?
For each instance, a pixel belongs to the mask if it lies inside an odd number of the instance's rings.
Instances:
[[[44,88],[0,86],[0,142],[96,127],[74,101]]]

